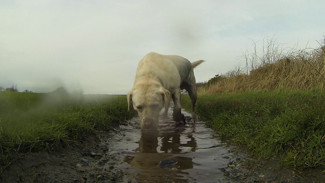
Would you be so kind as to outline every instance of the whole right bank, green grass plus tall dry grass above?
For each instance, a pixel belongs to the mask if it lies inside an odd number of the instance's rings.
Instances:
[[[325,40],[319,48],[283,45],[274,38],[261,48],[253,43],[244,67],[198,84],[198,114],[255,156],[325,169]]]

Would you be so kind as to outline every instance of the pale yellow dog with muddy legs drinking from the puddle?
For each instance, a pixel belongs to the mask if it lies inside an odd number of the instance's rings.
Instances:
[[[177,55],[162,55],[155,52],[146,54],[140,61],[131,92],[127,94],[128,110],[130,105],[138,111],[141,129],[157,129],[161,109],[165,115],[169,108],[170,97],[174,101],[173,120],[184,121],[181,113],[181,89],[186,89],[191,99],[191,113],[195,120],[194,107],[197,101],[196,79],[193,68],[204,60],[190,63]]]

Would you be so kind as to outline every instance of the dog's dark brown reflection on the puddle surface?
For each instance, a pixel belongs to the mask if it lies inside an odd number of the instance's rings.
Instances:
[[[161,138],[160,151],[165,153],[158,153],[158,138]],[[181,147],[189,147],[191,151],[197,149],[197,143],[194,137],[187,135],[189,141],[181,144],[181,133],[158,131],[143,131],[139,141],[139,147],[135,150],[138,152],[132,156],[126,156],[125,161],[132,165],[138,173],[138,178],[153,181],[153,182],[166,182],[166,178],[176,182],[187,182],[187,172],[182,170],[193,168],[192,158],[181,155]],[[178,163],[176,165],[161,168],[158,166],[159,162],[173,158]],[[159,179],[160,177],[160,179]],[[163,178],[164,179],[161,179]]]

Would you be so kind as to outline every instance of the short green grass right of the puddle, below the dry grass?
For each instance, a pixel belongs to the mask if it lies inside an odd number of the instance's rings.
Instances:
[[[259,158],[295,168],[325,167],[325,93],[244,92],[199,96],[197,114],[220,136]],[[182,106],[190,108],[189,98]]]

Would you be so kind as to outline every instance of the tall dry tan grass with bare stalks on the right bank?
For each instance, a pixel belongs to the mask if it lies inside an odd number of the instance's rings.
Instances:
[[[243,68],[211,78],[198,87],[199,94],[270,91],[274,89],[325,90],[325,39],[319,48],[285,48],[276,39],[263,40],[260,51],[253,44],[253,53],[246,51]]]

